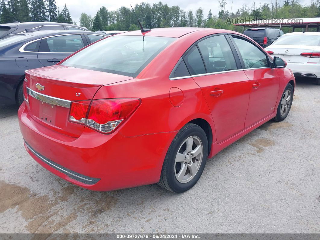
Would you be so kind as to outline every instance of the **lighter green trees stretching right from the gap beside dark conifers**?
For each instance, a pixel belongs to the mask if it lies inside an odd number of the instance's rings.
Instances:
[[[311,18],[320,17],[319,0],[311,0],[310,4],[302,5],[299,0],[284,0],[269,3],[255,3],[251,6],[242,5],[241,8],[232,11],[232,6],[228,7],[226,0],[220,0],[212,4],[214,8],[219,8],[218,15],[213,15],[211,9],[204,15],[204,9],[199,7],[193,10],[185,11],[179,6],[169,6],[158,2],[149,4],[141,2],[134,6],[134,12],[137,14],[144,28],[164,28],[164,27],[205,27],[217,29],[234,30],[235,27],[226,20],[236,18],[257,18],[270,19],[275,18]],[[216,6],[214,6],[216,5]],[[230,9],[230,10],[228,10]],[[133,11],[129,7],[122,6],[116,11],[108,11],[104,6],[100,7],[94,17],[87,13],[82,13],[79,19],[80,25],[93,31],[99,30],[137,30],[137,20]],[[242,29],[238,29],[242,31]],[[289,29],[284,28],[284,32]]]

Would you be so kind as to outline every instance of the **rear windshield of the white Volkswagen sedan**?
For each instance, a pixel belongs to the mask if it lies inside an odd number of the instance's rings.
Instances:
[[[320,46],[320,35],[283,35],[273,42],[272,45]]]

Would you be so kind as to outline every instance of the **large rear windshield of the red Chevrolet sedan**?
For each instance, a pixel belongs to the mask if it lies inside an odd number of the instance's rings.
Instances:
[[[176,38],[145,36],[107,37],[73,55],[61,65],[129,77],[138,74]]]

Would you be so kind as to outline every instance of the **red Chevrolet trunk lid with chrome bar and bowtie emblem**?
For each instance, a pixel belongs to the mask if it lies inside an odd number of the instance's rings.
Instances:
[[[69,121],[71,102],[91,100],[101,86],[128,79],[132,77],[60,65],[27,70],[28,111],[40,124],[79,137],[84,125]]]

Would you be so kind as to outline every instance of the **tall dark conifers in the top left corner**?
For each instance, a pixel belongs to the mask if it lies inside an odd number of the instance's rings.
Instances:
[[[0,23],[13,21],[73,23],[66,4],[59,11],[55,0],[1,0]]]

